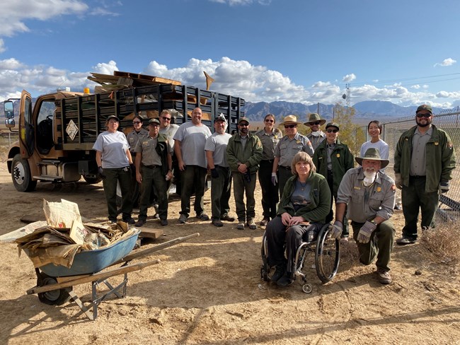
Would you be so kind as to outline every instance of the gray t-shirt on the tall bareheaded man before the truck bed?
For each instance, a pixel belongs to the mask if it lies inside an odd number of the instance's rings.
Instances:
[[[211,131],[204,124],[195,126],[190,121],[179,126],[173,139],[180,141],[180,151],[185,165],[207,168],[205,144],[209,136],[211,136]]]

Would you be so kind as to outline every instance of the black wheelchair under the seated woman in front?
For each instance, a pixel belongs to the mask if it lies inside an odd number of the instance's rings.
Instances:
[[[297,249],[294,274],[296,278],[301,278],[304,293],[311,293],[312,291],[311,285],[306,281],[306,274],[302,271],[308,252],[315,253],[316,274],[322,283],[328,283],[337,274],[340,262],[340,238],[334,239],[330,237],[329,226],[330,223],[324,224],[317,236],[312,236],[309,232],[306,232],[301,245]],[[265,232],[262,238],[261,254],[263,264],[260,268],[260,277],[263,281],[270,281],[268,274],[272,267],[268,264],[268,245]]]

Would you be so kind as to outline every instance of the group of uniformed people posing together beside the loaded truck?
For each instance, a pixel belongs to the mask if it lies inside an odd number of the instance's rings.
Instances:
[[[447,192],[455,168],[452,141],[445,131],[432,124],[430,105],[418,107],[416,125],[398,141],[394,154],[396,181],[385,173],[389,146],[380,138],[382,125],[376,120],[367,127],[371,139],[362,144],[360,156],[354,158],[348,146],[338,138],[339,124],[326,124],[324,133],[321,126],[326,120],[318,114],[309,115],[308,122],[304,123],[311,129],[307,136],[297,131],[301,122],[295,115],[284,117],[281,124],[284,135],[276,128],[272,114],[265,116],[264,128],[254,134],[249,130],[247,117],[238,119],[238,131],[234,135],[226,132],[228,123],[224,115],[214,119],[214,134],[201,119],[202,110],[197,107],[192,110],[191,121],[177,126],[171,124],[171,112],[165,110],[160,119],[150,119],[148,133],[142,133],[142,119],[134,117],[135,133],[128,134],[126,139],[117,131],[120,120],[108,117],[108,131],[98,136],[94,149],[100,175],[105,177],[109,220],[117,218],[118,181],[124,221],[144,225],[153,190],[161,225],[166,226],[167,192],[174,171],[181,186],[179,223],[188,221],[193,193],[196,217],[208,221],[203,195],[209,168],[212,224],[222,227],[222,221],[235,221],[229,214],[233,182],[236,228],[255,229],[254,192],[258,172],[263,206],[260,226],[266,226],[269,264],[275,267],[270,280],[279,286],[288,286],[294,281],[295,253],[306,234],[307,240],[311,240],[323,224],[331,223],[333,238],[347,240],[349,221],[360,262],[370,264],[376,258],[379,281],[391,283],[389,262],[396,230],[390,218],[396,188],[402,189],[406,220],[403,236],[396,243],[407,245],[417,240],[419,209],[422,229],[434,226],[438,193]],[[131,217],[132,174],[141,185],[137,222]]]

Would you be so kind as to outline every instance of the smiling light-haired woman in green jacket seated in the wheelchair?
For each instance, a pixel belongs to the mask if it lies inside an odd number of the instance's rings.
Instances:
[[[270,281],[276,281],[277,286],[289,286],[294,281],[297,248],[302,241],[315,240],[330,211],[328,181],[316,173],[309,154],[297,153],[291,168],[294,176],[287,180],[277,216],[265,230],[268,264],[276,268]]]

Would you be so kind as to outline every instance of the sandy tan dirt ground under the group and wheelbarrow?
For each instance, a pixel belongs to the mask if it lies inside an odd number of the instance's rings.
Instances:
[[[106,216],[101,185],[39,183],[35,192],[20,193],[4,162],[0,195],[0,235],[23,226],[23,216],[45,220],[42,199],[74,201],[81,215],[93,221]],[[142,246],[192,233],[200,237],[135,260],[161,262],[130,273],[127,297],[103,301],[96,321],[74,302],[45,305],[27,295],[36,283],[32,263],[25,255],[18,258],[16,245],[0,244],[0,343],[460,344],[459,269],[430,261],[419,245],[394,248],[389,286],[377,281],[374,265],[350,264],[343,257],[337,276],[326,285],[314,269],[306,269],[313,287],[306,294],[298,282],[277,288],[261,281],[263,229],[236,230],[236,223],[215,228],[196,218],[179,225],[179,208],[180,201],[171,201],[165,235]],[[205,208],[210,214],[209,191]],[[256,214],[260,220],[260,202]],[[401,211],[393,221],[399,236]],[[150,218],[148,225],[157,222]],[[306,267],[313,259],[310,255]],[[74,291],[88,303],[90,283]]]

